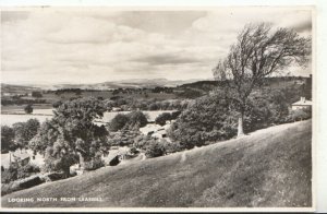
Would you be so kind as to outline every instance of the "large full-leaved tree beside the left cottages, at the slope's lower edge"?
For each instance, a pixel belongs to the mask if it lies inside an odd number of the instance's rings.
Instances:
[[[96,98],[77,98],[64,102],[56,110],[51,120],[43,123],[38,134],[31,141],[34,151],[46,155],[48,170],[63,170],[69,176],[69,167],[89,162],[96,152],[109,150],[108,131],[94,120],[104,116],[105,107]]]

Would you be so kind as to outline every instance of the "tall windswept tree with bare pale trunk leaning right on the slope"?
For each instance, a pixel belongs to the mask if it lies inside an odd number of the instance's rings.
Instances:
[[[293,63],[304,66],[310,52],[311,38],[300,37],[293,29],[272,32],[266,23],[245,25],[228,56],[214,69],[214,76],[239,112],[238,135],[244,134],[244,112],[253,88]]]

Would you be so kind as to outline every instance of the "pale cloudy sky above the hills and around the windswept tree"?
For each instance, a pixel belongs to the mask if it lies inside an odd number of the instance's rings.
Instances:
[[[307,8],[1,11],[1,82],[213,79],[213,68],[238,33],[259,22],[312,36]],[[290,67],[286,73],[307,76],[311,67]]]

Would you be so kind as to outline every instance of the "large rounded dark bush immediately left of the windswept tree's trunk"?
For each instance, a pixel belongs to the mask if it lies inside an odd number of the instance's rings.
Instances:
[[[223,98],[201,97],[171,124],[168,135],[181,148],[227,140],[237,134],[237,116]]]

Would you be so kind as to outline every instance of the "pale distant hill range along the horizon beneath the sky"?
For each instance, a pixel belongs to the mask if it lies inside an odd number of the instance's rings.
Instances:
[[[130,79],[122,81],[108,81],[104,83],[92,84],[5,84],[1,83],[1,90],[4,91],[33,91],[33,90],[61,90],[61,88],[81,88],[81,90],[116,90],[122,88],[142,88],[142,87],[175,87],[178,85],[204,81],[204,79],[190,80],[167,80],[167,79]]]

